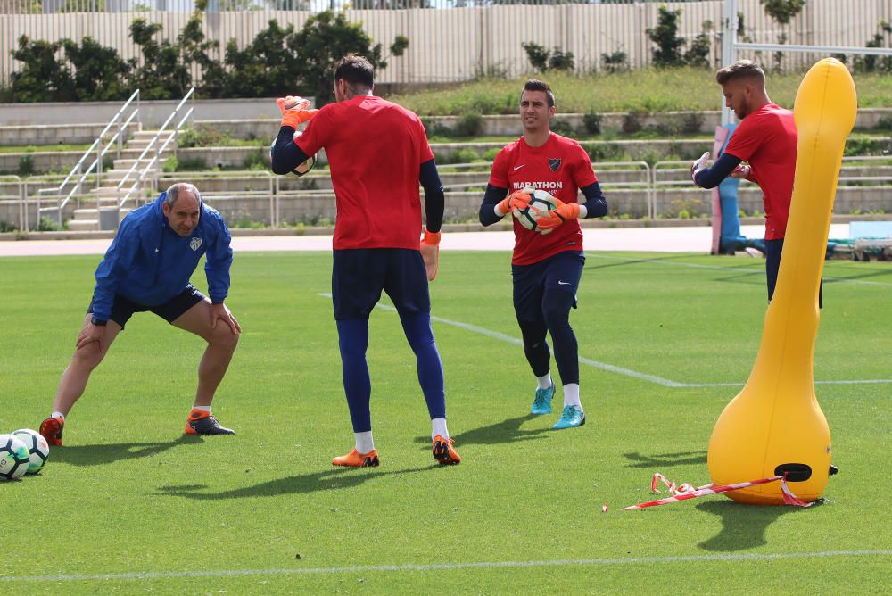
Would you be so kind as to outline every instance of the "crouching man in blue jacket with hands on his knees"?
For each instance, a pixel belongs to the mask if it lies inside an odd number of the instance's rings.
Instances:
[[[93,301],[74,356],[62,373],[53,413],[40,425],[48,443],[62,444],[65,417],[84,393],[90,373],[133,313],[146,310],[208,343],[198,365],[198,390],[186,433],[235,434],[211,415],[211,401],[242,331],[223,303],[232,265],[230,239],[219,212],[205,205],[198,189],[186,182],[128,213],[96,269]],[[210,299],[189,283],[204,254]]]

